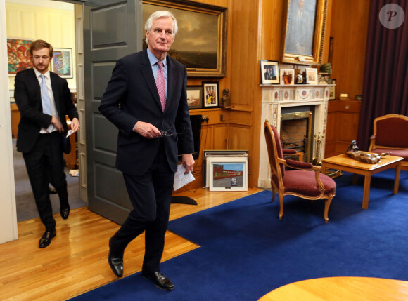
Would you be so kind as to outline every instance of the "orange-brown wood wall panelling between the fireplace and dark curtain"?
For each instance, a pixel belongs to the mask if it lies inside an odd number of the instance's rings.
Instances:
[[[350,101],[329,102],[325,156],[342,154],[357,139],[362,95],[369,0],[333,0],[330,36],[333,37],[332,79],[336,94],[348,93]]]

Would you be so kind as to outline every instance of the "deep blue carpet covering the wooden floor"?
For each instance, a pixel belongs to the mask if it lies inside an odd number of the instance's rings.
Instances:
[[[170,231],[201,247],[167,260],[163,274],[175,290],[165,292],[141,274],[127,276],[74,300],[257,300],[295,281],[365,276],[408,281],[408,178],[402,172],[393,194],[394,171],[371,180],[369,209],[362,209],[364,179],[336,178],[338,190],[323,218],[323,201],[284,199],[264,191],[170,222]],[[125,262],[126,265],[126,262]]]

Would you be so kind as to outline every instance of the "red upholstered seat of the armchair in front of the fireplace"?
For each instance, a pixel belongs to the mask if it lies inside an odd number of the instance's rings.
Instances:
[[[320,180],[323,182],[325,195],[336,193],[336,182],[332,178],[321,173]],[[286,170],[283,186],[286,193],[291,192],[310,197],[320,194],[314,171]]]

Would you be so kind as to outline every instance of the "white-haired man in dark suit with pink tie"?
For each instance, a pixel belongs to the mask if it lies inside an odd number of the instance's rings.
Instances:
[[[127,244],[146,231],[142,275],[158,288],[173,290],[159,265],[177,154],[182,154],[186,173],[193,170],[187,72],[167,55],[177,33],[174,15],[157,11],[145,29],[148,49],[117,61],[99,107],[120,130],[116,167],[123,173],[134,209],[109,241],[108,262],[115,275],[122,276]]]

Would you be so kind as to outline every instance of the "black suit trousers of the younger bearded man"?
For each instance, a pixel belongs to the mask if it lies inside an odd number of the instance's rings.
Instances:
[[[39,217],[47,231],[56,227],[49,196],[49,183],[58,192],[60,206],[63,208],[69,206],[60,135],[58,131],[39,134],[33,149],[23,153]]]

